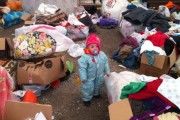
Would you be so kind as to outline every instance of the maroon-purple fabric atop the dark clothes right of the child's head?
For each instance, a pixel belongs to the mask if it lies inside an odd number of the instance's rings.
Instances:
[[[133,48],[137,48],[139,46],[137,40],[131,36],[128,36],[128,37],[122,39],[122,43],[120,44],[120,47],[122,47],[124,45],[130,45]]]

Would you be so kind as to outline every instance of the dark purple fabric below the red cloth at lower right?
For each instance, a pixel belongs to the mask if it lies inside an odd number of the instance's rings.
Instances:
[[[130,120],[146,120],[148,118],[160,115],[171,108],[171,106],[167,105],[157,97],[148,99],[146,102],[150,103],[149,109],[142,114],[131,117]]]

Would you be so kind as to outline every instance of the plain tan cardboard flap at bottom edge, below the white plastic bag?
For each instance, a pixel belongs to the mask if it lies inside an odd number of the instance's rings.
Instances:
[[[109,106],[110,120],[129,120],[133,114],[128,99],[124,99]]]

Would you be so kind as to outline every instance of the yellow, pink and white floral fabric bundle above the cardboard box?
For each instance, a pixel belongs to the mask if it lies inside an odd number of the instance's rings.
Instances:
[[[31,59],[44,57],[55,51],[56,41],[44,32],[29,32],[14,40],[14,57]]]

